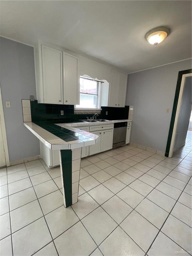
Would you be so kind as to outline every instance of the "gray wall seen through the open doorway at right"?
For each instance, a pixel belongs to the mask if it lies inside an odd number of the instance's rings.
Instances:
[[[183,143],[185,143],[185,139],[187,136],[187,130],[189,126],[189,119],[191,115],[191,103],[192,103],[192,83],[191,77],[188,77],[185,81],[184,91],[183,91],[183,99],[181,103],[181,109],[178,117],[177,123],[177,141],[175,142],[175,149],[181,147]]]

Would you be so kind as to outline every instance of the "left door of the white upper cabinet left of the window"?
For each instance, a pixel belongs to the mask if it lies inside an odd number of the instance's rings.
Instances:
[[[44,103],[63,104],[62,51],[42,45]]]

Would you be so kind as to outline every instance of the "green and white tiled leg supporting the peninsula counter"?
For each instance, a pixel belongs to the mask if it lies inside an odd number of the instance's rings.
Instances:
[[[60,150],[60,168],[65,207],[78,201],[81,148]]]

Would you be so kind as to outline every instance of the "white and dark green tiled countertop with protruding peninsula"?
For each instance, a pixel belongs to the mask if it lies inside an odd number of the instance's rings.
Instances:
[[[111,124],[119,122],[131,122],[132,120],[112,120],[109,122],[76,122],[53,124],[49,122],[24,122],[29,129],[42,143],[51,150],[75,149],[96,144],[100,140],[90,132],[73,128],[73,126],[90,126]]]

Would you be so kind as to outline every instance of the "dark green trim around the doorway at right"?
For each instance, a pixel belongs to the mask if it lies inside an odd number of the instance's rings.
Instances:
[[[166,151],[165,151],[166,157],[169,156],[169,150],[170,150],[171,139],[172,139],[172,135],[173,135],[173,127],[174,127],[175,116],[176,116],[176,112],[177,112],[177,104],[178,104],[179,93],[180,93],[180,88],[181,88],[182,76],[184,74],[188,74],[188,73],[192,73],[192,69],[179,71],[179,73],[178,73],[177,86],[176,86],[176,90],[175,90],[175,98],[174,98],[174,103],[173,103],[173,111],[172,111],[172,115],[171,115],[171,122],[170,122],[167,146],[166,146]]]

